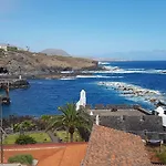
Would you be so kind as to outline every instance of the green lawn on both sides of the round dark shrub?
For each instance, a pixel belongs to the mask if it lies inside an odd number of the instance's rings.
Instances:
[[[32,138],[34,138],[38,143],[50,143],[51,138],[46,133],[31,133],[29,134]],[[4,138],[3,144],[14,144],[19,134],[10,134]]]

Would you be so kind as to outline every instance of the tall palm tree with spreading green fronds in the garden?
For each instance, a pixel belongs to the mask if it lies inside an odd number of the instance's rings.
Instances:
[[[91,131],[92,120],[91,116],[84,111],[76,111],[76,106],[73,103],[59,107],[61,115],[53,116],[50,121],[50,128],[63,127],[70,133],[70,141],[73,142],[73,134],[80,127]]]

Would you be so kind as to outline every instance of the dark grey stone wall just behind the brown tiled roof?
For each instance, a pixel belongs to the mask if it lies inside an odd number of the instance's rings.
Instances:
[[[164,132],[162,117],[144,116],[100,116],[100,125],[125,132]]]

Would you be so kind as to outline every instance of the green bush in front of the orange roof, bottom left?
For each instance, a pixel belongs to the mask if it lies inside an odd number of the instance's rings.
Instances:
[[[20,164],[25,164],[25,165],[32,165],[33,163],[33,157],[32,155],[15,155],[13,157],[8,158],[9,163],[20,163]]]

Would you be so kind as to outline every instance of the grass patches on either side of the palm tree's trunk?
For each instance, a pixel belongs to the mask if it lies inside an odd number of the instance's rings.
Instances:
[[[62,142],[69,142],[69,133],[66,131],[56,131],[55,136],[58,136]],[[80,136],[79,132],[75,131],[73,134],[73,142],[83,142],[84,139]]]

